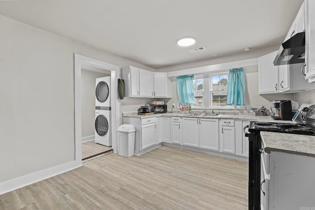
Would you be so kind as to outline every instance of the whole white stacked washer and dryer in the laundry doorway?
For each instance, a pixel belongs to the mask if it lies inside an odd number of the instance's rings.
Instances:
[[[95,88],[95,142],[112,146],[110,76],[96,78]]]

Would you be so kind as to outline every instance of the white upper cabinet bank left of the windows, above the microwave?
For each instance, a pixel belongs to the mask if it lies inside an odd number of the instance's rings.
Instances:
[[[164,72],[152,72],[126,66],[122,68],[126,97],[172,97],[171,80]]]

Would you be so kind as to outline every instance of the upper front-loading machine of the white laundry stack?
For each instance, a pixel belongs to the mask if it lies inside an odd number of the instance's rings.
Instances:
[[[95,80],[95,107],[110,107],[110,76]]]

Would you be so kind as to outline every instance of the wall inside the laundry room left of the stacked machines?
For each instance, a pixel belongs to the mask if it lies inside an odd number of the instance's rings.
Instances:
[[[90,70],[81,70],[81,118],[82,138],[95,135],[95,79],[110,76]]]

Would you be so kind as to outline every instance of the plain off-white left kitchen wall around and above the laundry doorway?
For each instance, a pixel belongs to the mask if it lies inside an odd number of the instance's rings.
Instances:
[[[1,15],[0,26],[0,183],[74,160],[74,53],[155,70]]]

